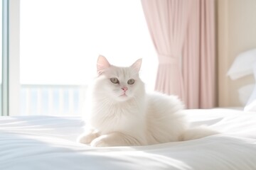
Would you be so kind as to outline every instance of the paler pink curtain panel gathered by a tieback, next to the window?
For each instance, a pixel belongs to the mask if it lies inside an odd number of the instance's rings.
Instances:
[[[142,7],[159,58],[156,91],[184,98],[181,57],[190,1],[142,0]]]

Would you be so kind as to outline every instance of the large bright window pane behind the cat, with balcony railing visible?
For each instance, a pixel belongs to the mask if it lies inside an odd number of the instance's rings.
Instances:
[[[80,114],[98,55],[127,66],[143,58],[154,88],[156,52],[140,1],[20,1],[18,115]]]

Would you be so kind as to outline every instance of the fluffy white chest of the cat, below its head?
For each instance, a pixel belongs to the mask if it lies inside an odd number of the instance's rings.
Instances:
[[[90,125],[101,134],[109,132],[124,132],[130,135],[143,133],[145,125],[144,103],[129,101],[124,103],[97,103],[92,106],[93,115]]]

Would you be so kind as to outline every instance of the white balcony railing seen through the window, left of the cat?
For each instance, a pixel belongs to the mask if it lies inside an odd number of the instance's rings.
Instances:
[[[85,85],[21,85],[20,115],[82,115]]]

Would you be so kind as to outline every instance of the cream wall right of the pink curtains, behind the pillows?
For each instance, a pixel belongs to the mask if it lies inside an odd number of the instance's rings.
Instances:
[[[256,1],[218,0],[218,104],[242,106],[238,89],[254,83],[252,76],[238,80],[226,77],[240,52],[256,47]]]

